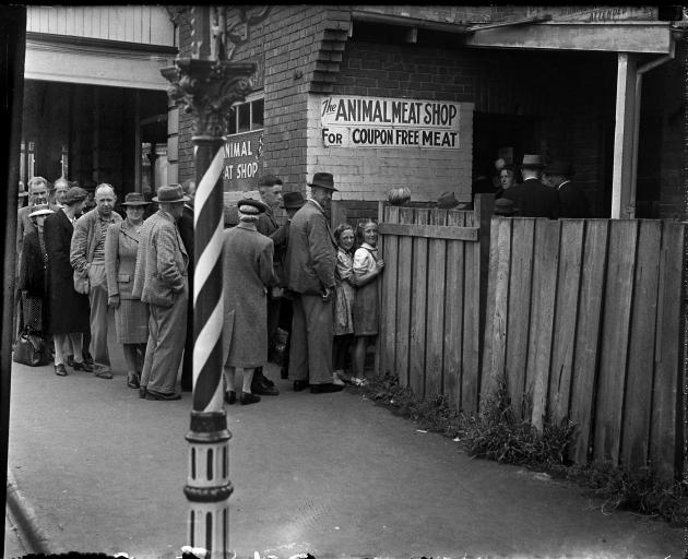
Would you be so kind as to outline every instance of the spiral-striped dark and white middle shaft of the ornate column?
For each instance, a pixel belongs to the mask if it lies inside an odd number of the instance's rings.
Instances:
[[[193,228],[193,409],[223,409],[222,326],[222,139],[194,141],[197,171],[202,173],[195,191]],[[202,169],[205,169],[204,171]]]

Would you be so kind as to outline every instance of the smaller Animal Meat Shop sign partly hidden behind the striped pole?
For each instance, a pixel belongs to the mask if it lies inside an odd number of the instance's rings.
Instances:
[[[252,190],[263,152],[263,131],[230,135],[227,138],[224,150],[224,191]]]

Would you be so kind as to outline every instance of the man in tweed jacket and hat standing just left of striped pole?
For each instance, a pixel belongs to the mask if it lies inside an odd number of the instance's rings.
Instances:
[[[139,396],[179,400],[175,386],[187,337],[189,257],[177,229],[183,212],[181,185],[159,187],[153,202],[159,210],[141,227],[133,295],[149,304],[149,343]]]

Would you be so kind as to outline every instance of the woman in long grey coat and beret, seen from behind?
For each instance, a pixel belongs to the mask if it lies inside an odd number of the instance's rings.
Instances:
[[[260,402],[251,393],[256,367],[268,361],[268,289],[277,285],[273,271],[273,241],[258,233],[258,216],[265,205],[258,200],[240,200],[239,223],[223,237],[224,370],[227,382],[225,402],[236,402],[236,370],[244,371],[239,403]]]

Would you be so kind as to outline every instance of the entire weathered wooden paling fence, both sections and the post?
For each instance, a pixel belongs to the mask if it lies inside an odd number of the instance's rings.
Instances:
[[[571,460],[661,477],[683,463],[685,225],[379,209],[378,370],[475,413],[497,382],[542,429],[573,421]]]

